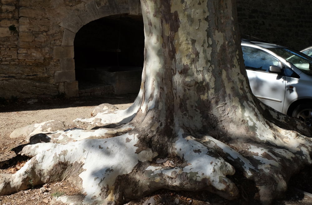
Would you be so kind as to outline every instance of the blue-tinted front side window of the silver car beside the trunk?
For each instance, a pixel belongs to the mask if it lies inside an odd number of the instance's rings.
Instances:
[[[269,72],[271,65],[278,65],[278,60],[257,49],[242,47],[246,69]]]

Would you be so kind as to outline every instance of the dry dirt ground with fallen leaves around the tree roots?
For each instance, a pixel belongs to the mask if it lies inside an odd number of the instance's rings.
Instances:
[[[1,173],[16,172],[28,159],[16,155],[19,146],[26,144],[22,138],[9,138],[10,133],[16,129],[32,123],[48,120],[62,120],[72,124],[76,118],[89,118],[93,108],[102,103],[110,103],[119,109],[125,109],[135,100],[136,95],[123,96],[89,96],[80,98],[45,98],[45,99],[11,99],[9,102],[0,99],[0,175]],[[127,205],[158,205],[158,204],[191,204],[191,205],[238,205],[258,204],[252,199],[253,185],[241,179],[240,175],[232,176],[232,180],[241,184],[241,198],[228,201],[217,195],[200,192],[175,192],[159,190],[140,200],[130,201]],[[283,199],[276,200],[273,204],[295,205],[312,204],[311,168],[306,168],[290,180],[290,188]],[[239,183],[245,180],[244,183]],[[308,193],[303,193],[304,190]],[[67,181],[41,186],[32,186],[28,190],[20,191],[8,196],[0,196],[0,205],[15,204],[63,204],[59,202],[63,195],[79,194],[78,188]],[[312,196],[312,194],[311,194]],[[59,199],[56,201],[56,199]]]

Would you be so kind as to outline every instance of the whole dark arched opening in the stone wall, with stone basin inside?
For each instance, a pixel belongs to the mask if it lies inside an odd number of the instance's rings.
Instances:
[[[139,92],[144,62],[142,16],[91,21],[76,33],[74,52],[80,96]]]

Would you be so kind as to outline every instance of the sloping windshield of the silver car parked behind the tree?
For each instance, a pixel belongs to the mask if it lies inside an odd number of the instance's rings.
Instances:
[[[289,48],[268,48],[289,63],[299,68],[302,72],[312,76],[312,58]]]

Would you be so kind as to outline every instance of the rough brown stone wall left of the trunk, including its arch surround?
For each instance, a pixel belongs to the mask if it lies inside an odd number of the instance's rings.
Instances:
[[[0,97],[78,96],[77,31],[139,8],[137,0],[0,0]]]

